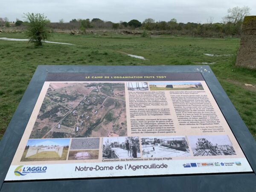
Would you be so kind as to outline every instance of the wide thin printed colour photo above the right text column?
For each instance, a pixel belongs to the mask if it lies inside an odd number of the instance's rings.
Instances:
[[[204,90],[200,82],[149,83],[150,90]]]

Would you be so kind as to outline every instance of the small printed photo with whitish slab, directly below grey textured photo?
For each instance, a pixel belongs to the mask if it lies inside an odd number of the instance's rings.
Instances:
[[[99,159],[99,150],[70,151],[68,160]]]

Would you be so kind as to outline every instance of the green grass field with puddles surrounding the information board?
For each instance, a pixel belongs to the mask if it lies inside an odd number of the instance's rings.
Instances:
[[[25,38],[22,33],[0,33],[0,38]],[[48,65],[198,65],[211,64],[233,105],[256,138],[256,71],[235,67],[239,38],[185,38],[134,35],[77,35],[55,33],[51,41],[75,45],[0,40],[0,137],[6,130],[36,67]],[[125,53],[146,58],[132,58]],[[218,56],[208,56],[204,54]]]

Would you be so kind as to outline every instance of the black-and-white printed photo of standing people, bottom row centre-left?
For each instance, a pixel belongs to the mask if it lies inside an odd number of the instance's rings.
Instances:
[[[102,145],[103,159],[140,158],[139,137],[105,137]]]

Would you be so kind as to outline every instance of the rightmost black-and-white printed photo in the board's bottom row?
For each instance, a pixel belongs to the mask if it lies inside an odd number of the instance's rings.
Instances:
[[[236,155],[227,135],[189,136],[194,156]]]

